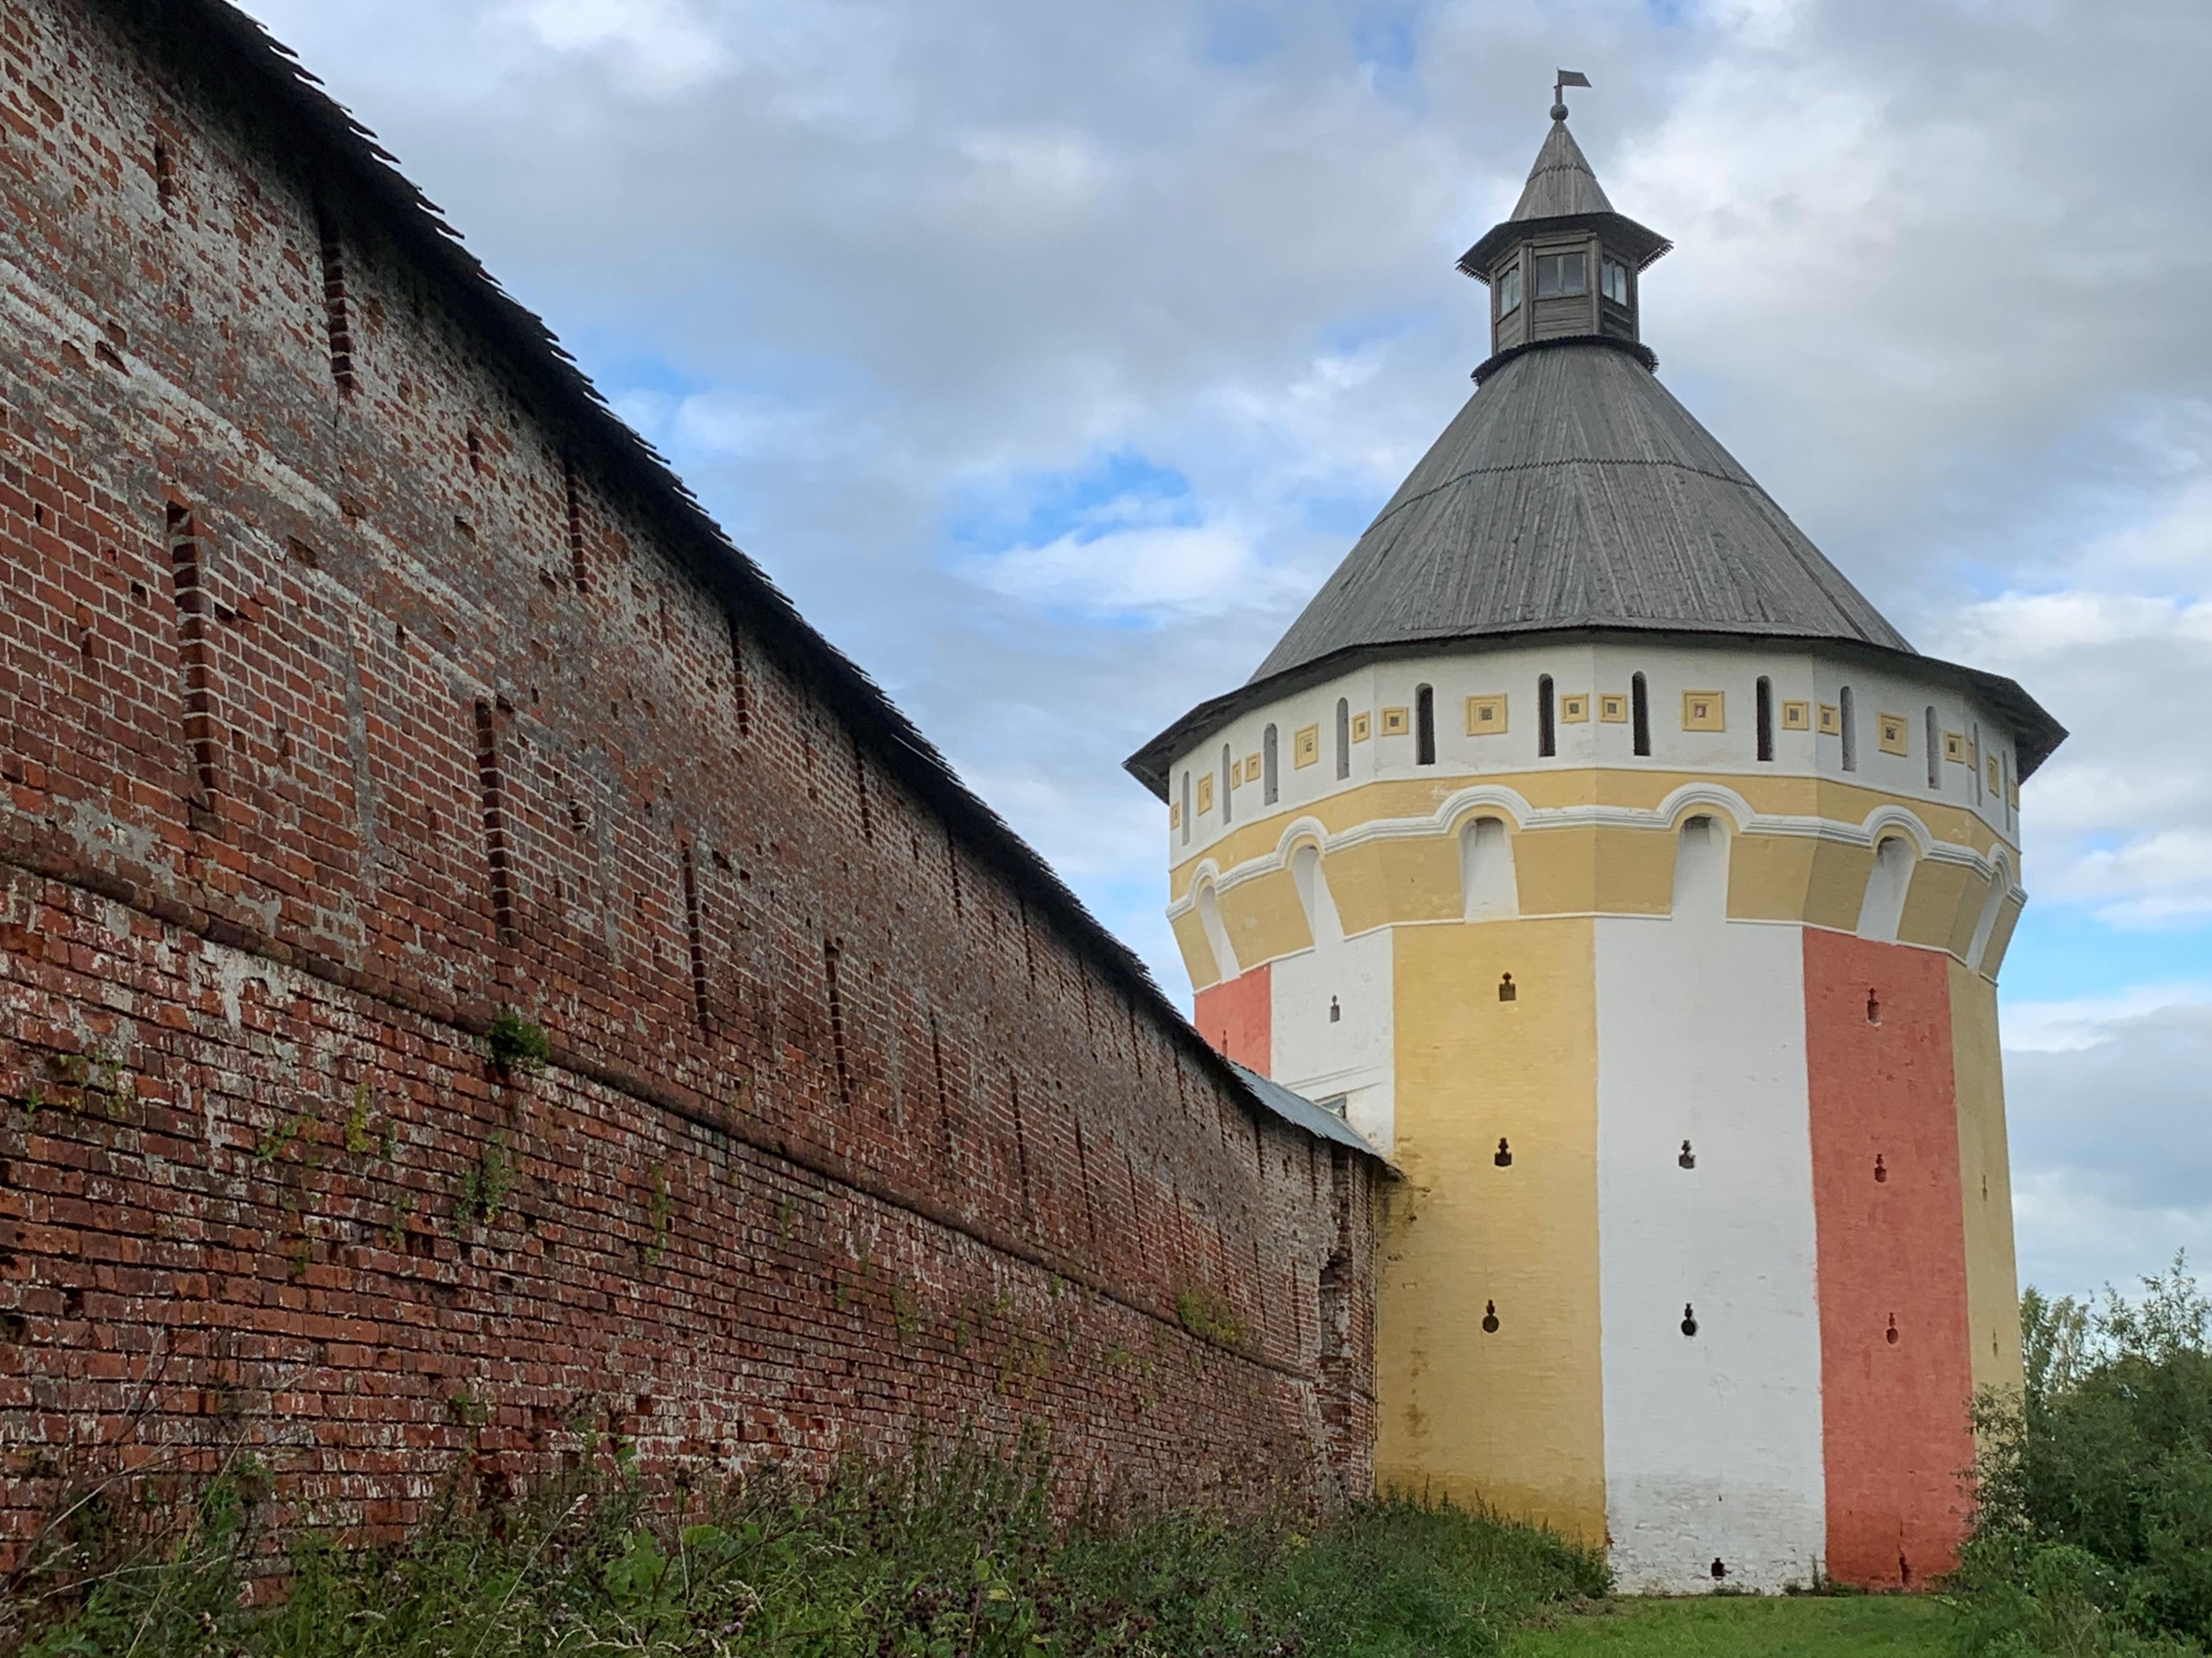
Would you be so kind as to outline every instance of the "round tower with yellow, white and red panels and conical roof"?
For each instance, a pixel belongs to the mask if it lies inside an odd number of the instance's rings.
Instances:
[[[1659,385],[1553,108],[1478,389],[1148,743],[1197,1021],[1405,1172],[1378,1483],[1624,1587],[1918,1585],[2017,1384],[1995,975],[2064,730],[1918,654]]]

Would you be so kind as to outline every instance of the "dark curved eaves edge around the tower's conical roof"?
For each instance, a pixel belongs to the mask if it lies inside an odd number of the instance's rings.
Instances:
[[[1927,674],[1929,679],[1944,681],[1951,685],[1964,685],[1978,696],[1986,699],[1997,712],[2013,721],[2020,743],[2020,780],[2026,783],[2035,776],[2037,767],[2051,758],[2053,749],[2066,741],[2068,732],[2037,703],[2015,679],[2004,674],[1991,674],[1980,668],[1964,668],[1960,663],[1942,661],[1940,657],[1922,657],[1916,650],[1891,650],[1887,646],[1874,646],[1858,639],[1829,639],[1820,634],[1803,634],[1790,628],[1681,628],[1677,623],[1655,621],[1655,623],[1632,623],[1619,619],[1604,621],[1540,621],[1524,628],[1502,626],[1486,628],[1484,632],[1433,632],[1433,634],[1409,634],[1405,639],[1391,639],[1387,643],[1367,646],[1345,646],[1343,650],[1332,650],[1327,657],[1316,657],[1314,661],[1298,663],[1296,668],[1285,668],[1281,674],[1270,679],[1256,679],[1239,685],[1237,690],[1212,696],[1188,714],[1183,714],[1175,725],[1164,730],[1141,749],[1130,754],[1121,769],[1128,772],[1137,783],[1150,789],[1159,800],[1168,798],[1168,774],[1175,767],[1175,756],[1199,747],[1208,736],[1225,727],[1239,714],[1261,703],[1272,703],[1281,696],[1292,696],[1294,692],[1316,685],[1336,674],[1349,672],[1360,663],[1387,661],[1391,657],[1418,657],[1425,652],[1449,650],[1453,646],[1482,646],[1484,641],[1511,639],[1515,646],[1531,641],[1568,641],[1568,639],[1666,639],[1672,643],[1688,646],[1750,646],[1750,643],[1774,643],[1787,641],[1814,650],[1820,654],[1845,657],[1851,661],[1869,661],[1885,668]]]

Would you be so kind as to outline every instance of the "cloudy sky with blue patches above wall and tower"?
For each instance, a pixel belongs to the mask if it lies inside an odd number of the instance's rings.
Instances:
[[[1186,993],[1119,760],[1469,396],[1555,64],[1672,389],[2073,741],[2004,970],[2022,1278],[2212,1258],[2212,7],[250,0]]]

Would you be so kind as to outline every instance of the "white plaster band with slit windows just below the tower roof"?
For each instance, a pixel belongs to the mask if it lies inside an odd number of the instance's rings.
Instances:
[[[1644,674],[1650,692],[1650,756],[1635,754],[1628,723],[1608,725],[1597,718],[1597,694],[1628,694],[1630,676]],[[1590,718],[1579,725],[1557,725],[1557,754],[1537,754],[1535,685],[1537,676],[1551,674],[1555,690],[1590,694]],[[1761,674],[1774,683],[1774,758],[1756,758],[1756,685]],[[1383,736],[1385,707],[1413,707],[1413,688],[1436,690],[1436,765],[1413,765],[1413,738]],[[1781,730],[1781,705],[1785,701],[1812,703],[1814,714],[1820,703],[1840,703],[1843,688],[1851,688],[1858,716],[1858,769],[1843,772],[1843,743],[1836,736],[1820,736],[1818,730]],[[1725,699],[1728,730],[1683,732],[1681,696],[1686,690],[1721,692]],[[1467,699],[1504,692],[1506,734],[1467,736]],[[1371,716],[1371,736],[1352,745],[1352,776],[1336,776],[1336,701],[1345,699],[1356,714]],[[1736,643],[1681,643],[1606,639],[1601,643],[1478,643],[1433,657],[1400,657],[1356,668],[1336,679],[1294,692],[1276,703],[1241,714],[1225,730],[1212,732],[1192,754],[1181,756],[1170,772],[1170,800],[1181,800],[1183,772],[1212,772],[1217,776],[1217,798],[1212,811],[1194,814],[1190,840],[1181,829],[1168,831],[1168,860],[1181,864],[1206,851],[1225,831],[1261,818],[1296,811],[1323,800],[1340,789],[1352,789],[1374,778],[1482,778],[1498,772],[1528,772],[1542,767],[1579,769],[1590,765],[1648,767],[1661,772],[1701,772],[1725,778],[1736,776],[1829,776],[1863,783],[1916,800],[1947,800],[1982,814],[1991,829],[2020,844],[2017,814],[2011,811],[2002,791],[1986,787],[1975,794],[1973,769],[1944,760],[1938,767],[1938,785],[1927,783],[1924,710],[1936,707],[1938,730],[1982,736],[1982,754],[2000,756],[2006,778],[2017,774],[2017,758],[2011,732],[2004,721],[1975,699],[1949,685],[1936,685],[1918,676],[1909,663],[1882,663],[1874,668],[1865,661],[1843,661],[1794,641],[1767,646]],[[1909,725],[1909,752],[1882,754],[1876,743],[1876,714],[1900,714]],[[1261,738],[1274,725],[1281,743],[1279,798],[1265,805],[1261,783],[1245,783],[1234,789],[1232,820],[1223,825],[1219,800],[1221,745],[1239,758],[1261,752]],[[1298,727],[1321,730],[1321,756],[1316,765],[1292,763],[1294,736]]]

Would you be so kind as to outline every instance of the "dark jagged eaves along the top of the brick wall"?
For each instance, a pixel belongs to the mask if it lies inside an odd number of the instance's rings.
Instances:
[[[1199,1037],[1144,962],[1091,915],[1004,818],[969,791],[883,688],[814,632],[768,573],[730,542],[666,458],[608,407],[546,323],[462,248],[442,210],[400,175],[398,157],[321,91],[296,53],[226,0],[97,4],[119,29],[148,44],[148,62],[166,64],[192,97],[226,108],[270,155],[283,157],[301,175],[305,195],[387,237],[436,285],[456,321],[515,376],[553,436],[595,462],[608,491],[653,524],[664,546],[717,592],[750,637],[836,707],[891,776],[938,811],[1015,891],[1053,915],[1077,953],[1144,1006],[1232,1099],[1261,1121],[1283,1121]]]

